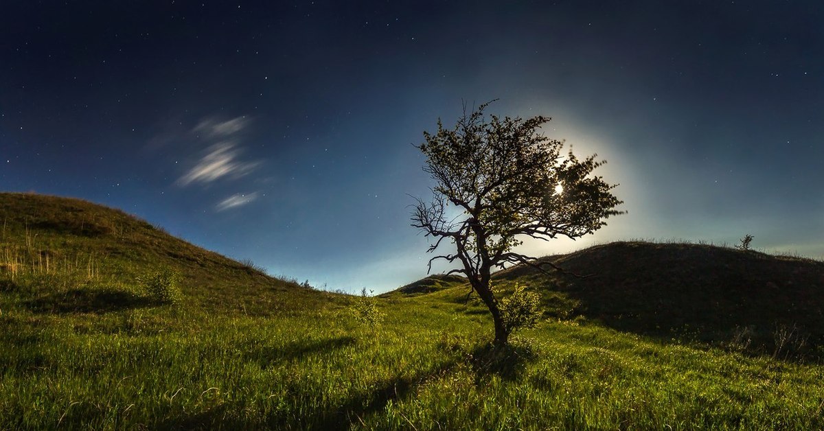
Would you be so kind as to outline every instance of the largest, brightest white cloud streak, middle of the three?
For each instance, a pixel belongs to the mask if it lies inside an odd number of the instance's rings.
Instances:
[[[194,182],[210,183],[224,176],[238,178],[255,170],[260,162],[241,162],[237,160],[238,151],[232,142],[222,142],[209,147],[204,157],[191,168],[177,183],[190,185]]]

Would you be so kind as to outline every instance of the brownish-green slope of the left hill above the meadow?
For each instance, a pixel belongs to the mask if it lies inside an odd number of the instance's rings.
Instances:
[[[0,279],[41,312],[105,312],[141,305],[138,278],[180,274],[187,302],[211,312],[268,314],[332,297],[269,277],[172,237],[118,209],[40,194],[0,194]]]

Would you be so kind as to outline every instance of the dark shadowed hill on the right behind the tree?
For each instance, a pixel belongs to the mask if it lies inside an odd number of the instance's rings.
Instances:
[[[674,243],[613,242],[543,258],[576,278],[519,265],[494,279],[559,293],[574,314],[617,330],[820,354],[824,262]]]

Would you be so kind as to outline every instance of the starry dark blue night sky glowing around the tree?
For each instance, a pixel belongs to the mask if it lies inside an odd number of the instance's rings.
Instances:
[[[413,144],[461,103],[608,161],[620,239],[824,257],[824,2],[0,4],[0,189],[329,289],[426,274]],[[438,271],[442,267],[436,268]]]

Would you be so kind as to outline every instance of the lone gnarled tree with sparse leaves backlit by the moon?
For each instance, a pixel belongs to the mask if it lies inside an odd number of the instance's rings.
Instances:
[[[447,239],[456,251],[429,260],[458,260],[461,268],[447,274],[464,274],[472,292],[489,307],[495,326],[494,344],[508,343],[512,325],[502,318],[499,298],[490,285],[494,268],[525,264],[541,269],[549,262],[516,253],[513,248],[527,237],[548,241],[559,236],[572,239],[597,231],[603,219],[622,201],[602,177],[592,171],[606,163],[596,155],[578,160],[570,149],[562,157],[562,141],[539,133],[548,117],[500,118],[484,114],[491,102],[464,113],[454,129],[424,132],[425,143],[417,148],[427,157],[424,171],[437,185],[433,199],[417,199],[412,226],[433,237],[428,252]],[[454,207],[454,208],[451,208]],[[559,269],[562,270],[562,269]]]

